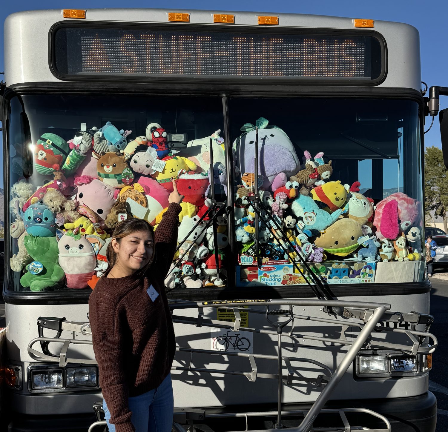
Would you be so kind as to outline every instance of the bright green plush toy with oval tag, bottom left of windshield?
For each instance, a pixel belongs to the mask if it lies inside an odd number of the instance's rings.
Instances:
[[[45,291],[64,279],[64,270],[57,264],[59,248],[56,237],[26,235],[24,243],[33,262],[26,266],[28,271],[20,278],[23,287],[30,287],[31,291]]]

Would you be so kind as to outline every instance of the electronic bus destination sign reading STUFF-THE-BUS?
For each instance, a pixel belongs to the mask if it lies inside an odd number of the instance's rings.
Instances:
[[[76,77],[372,81],[381,71],[379,40],[371,35],[184,29],[62,27],[53,64],[58,73]]]

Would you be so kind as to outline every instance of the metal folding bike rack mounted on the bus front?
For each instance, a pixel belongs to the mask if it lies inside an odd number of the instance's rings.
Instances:
[[[300,426],[291,428],[293,432],[310,432],[310,431],[354,431],[354,430],[370,430],[362,426],[350,426],[347,419],[347,415],[351,413],[364,413],[375,417],[376,419],[384,423],[384,428],[374,429],[378,432],[390,432],[391,427],[388,420],[374,411],[370,411],[365,408],[350,408],[350,409],[323,409],[323,406],[328,401],[330,394],[336,388],[342,376],[345,374],[350,364],[353,364],[354,359],[358,355],[359,351],[363,349],[388,349],[395,350],[401,353],[410,355],[428,355],[435,351],[437,347],[437,339],[435,336],[428,332],[429,326],[431,325],[433,319],[429,315],[419,314],[417,312],[401,313],[401,312],[389,312],[390,305],[382,303],[371,303],[371,302],[357,302],[357,301],[338,301],[338,300],[318,300],[318,299],[260,299],[260,300],[212,300],[212,301],[202,301],[202,302],[191,302],[184,300],[172,300],[169,302],[170,308],[172,310],[173,322],[177,324],[187,324],[195,325],[197,327],[219,327],[223,329],[229,329],[233,331],[238,331],[241,328],[241,314],[240,311],[244,310],[248,313],[263,314],[268,316],[272,321],[273,317],[276,317],[276,321],[273,321],[275,329],[268,328],[252,328],[244,327],[245,332],[252,332],[258,334],[266,335],[277,335],[279,351],[277,355],[264,355],[248,352],[229,352],[229,351],[212,351],[212,350],[202,350],[190,347],[178,346],[178,352],[186,352],[190,354],[190,360],[181,366],[173,366],[172,370],[181,370],[186,372],[199,372],[199,373],[213,373],[213,374],[223,374],[223,375],[234,375],[234,376],[245,376],[250,382],[254,382],[257,379],[276,379],[279,382],[279,398],[281,401],[281,394],[284,386],[294,386],[297,382],[304,382],[306,385],[313,386],[316,389],[321,389],[321,392],[315,402],[312,404],[309,410],[299,410],[299,411],[284,411],[281,408],[281,404],[278,404],[277,411],[263,411],[263,412],[246,412],[246,413],[208,413],[206,410],[178,410],[175,415],[175,420],[190,424],[190,430],[193,431],[194,424],[204,423],[207,419],[216,418],[245,418],[246,423],[250,417],[254,416],[277,416],[277,425],[281,425],[281,419],[288,416],[303,416],[302,423]],[[248,308],[244,308],[248,306]],[[262,308],[254,308],[254,306]],[[280,307],[288,306],[288,308],[280,309]],[[315,306],[320,308],[323,313],[323,317],[310,316],[296,313],[295,308],[303,308],[305,306]],[[233,311],[235,322],[219,321],[204,318],[204,308],[226,308],[229,311]],[[325,308],[340,308],[344,311],[343,318],[341,317],[328,317],[325,312]],[[177,315],[175,312],[181,309],[198,309],[197,317],[183,317]],[[302,309],[303,311],[303,309]],[[319,312],[318,312],[319,313]],[[281,321],[285,319],[290,320],[289,331],[283,332],[284,325]],[[280,320],[280,324],[279,324]],[[335,337],[321,337],[315,334],[305,334],[304,332],[298,333],[297,322],[306,321],[316,321],[323,322],[332,325],[339,325],[341,327],[339,331],[335,332]],[[358,320],[355,322],[353,320]],[[39,323],[40,321],[40,323]],[[410,328],[393,328],[386,327],[384,325],[379,326],[380,321],[384,323],[391,323],[392,325],[397,323],[408,323]],[[38,361],[42,362],[54,362],[59,363],[60,366],[65,366],[68,363],[78,363],[78,364],[96,364],[95,360],[90,359],[76,359],[70,358],[68,356],[68,350],[71,344],[91,344],[91,340],[78,340],[78,339],[68,339],[68,338],[46,338],[43,336],[43,328],[49,328],[55,330],[56,323],[59,329],[66,329],[73,332],[80,332],[82,334],[90,334],[90,327],[86,323],[75,323],[70,321],[65,321],[62,318],[43,318],[39,317],[39,337],[34,338],[29,346],[29,355]],[[420,331],[416,329],[416,325],[425,325],[425,331]],[[282,332],[279,332],[279,328],[282,327]],[[345,331],[353,327],[358,334],[350,334],[350,337],[345,336]],[[375,334],[379,333],[397,333],[402,334],[403,337],[409,342],[408,345],[403,343],[393,343],[386,342],[381,339],[375,338]],[[42,334],[42,336],[41,336]],[[58,331],[60,336],[60,332]],[[330,342],[332,344],[345,346],[347,351],[345,352],[344,358],[340,361],[340,364],[335,370],[329,368],[325,364],[314,359],[304,359],[296,358],[290,356],[284,356],[281,353],[282,341],[286,338],[289,341],[293,338],[307,338],[314,341]],[[42,352],[34,349],[35,343],[39,342]],[[62,344],[59,355],[54,355],[48,351],[48,344],[51,342],[57,342]],[[429,342],[432,342],[430,345]],[[307,346],[307,348],[312,348],[312,346]],[[43,352],[46,351],[46,352]],[[194,367],[194,356],[201,355],[218,355],[227,357],[227,361],[230,364],[232,359],[235,357],[246,358],[247,369],[246,370],[221,370],[221,369],[211,369],[211,368],[197,368]],[[279,373],[266,373],[258,368],[258,359],[272,360],[279,363]],[[221,360],[220,360],[221,361]],[[303,377],[301,374],[295,372],[293,363],[305,363],[312,364],[320,368],[317,370],[316,376]],[[286,369],[286,373],[282,369]],[[296,368],[297,370],[297,368]],[[96,405],[99,405],[98,402]],[[91,425],[90,430],[93,430],[97,426],[104,425],[104,421],[99,418],[99,412],[101,407],[97,406],[96,413],[98,415],[97,422]],[[198,412],[196,412],[198,411]],[[202,413],[202,414],[201,414]],[[337,426],[332,428],[313,428],[313,422],[319,414],[339,414],[341,422],[344,426]],[[296,418],[295,417],[295,418]],[[176,428],[176,424],[174,425]],[[179,426],[180,427],[180,426]],[[247,429],[247,428],[246,428]],[[178,429],[179,431],[181,429]]]

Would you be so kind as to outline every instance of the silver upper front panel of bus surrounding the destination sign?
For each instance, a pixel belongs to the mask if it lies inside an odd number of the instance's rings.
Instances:
[[[223,27],[245,26],[260,28],[257,16],[270,15],[279,18],[277,29],[326,29],[353,30],[353,19],[359,17],[327,17],[289,13],[256,13],[216,10],[167,10],[167,9],[88,9],[86,19],[67,19],[62,9],[18,12],[9,15],[4,24],[5,81],[8,86],[26,83],[56,83],[64,79],[56,77],[49,67],[49,32],[60,22],[79,24],[92,22],[168,24],[168,13],[189,13],[190,24],[212,26],[216,31]],[[213,14],[226,13],[235,16],[235,24],[214,24]],[[368,17],[367,17],[368,18]],[[176,26],[177,23],[169,23]],[[274,26],[265,26],[266,33]],[[420,39],[418,30],[408,24],[375,21],[373,29],[357,28],[359,34],[372,30],[385,41],[387,75],[378,86],[382,88],[409,88],[420,90]],[[362,86],[362,84],[360,84]]]

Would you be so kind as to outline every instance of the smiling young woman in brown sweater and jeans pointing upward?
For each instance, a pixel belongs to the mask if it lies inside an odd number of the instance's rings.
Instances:
[[[171,365],[176,351],[164,278],[177,245],[183,196],[155,233],[147,222],[120,222],[108,245],[108,273],[89,298],[93,349],[110,432],[171,432]]]

